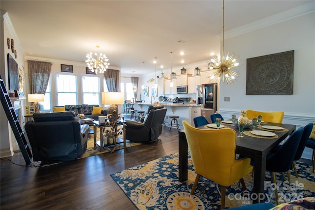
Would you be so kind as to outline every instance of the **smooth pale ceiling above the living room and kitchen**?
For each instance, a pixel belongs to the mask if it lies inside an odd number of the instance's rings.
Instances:
[[[310,0],[225,0],[224,31]],[[221,0],[1,0],[26,56],[86,60],[104,53],[125,74],[208,60],[220,51]],[[95,45],[99,45],[98,50]],[[180,51],[185,55],[180,56]],[[184,59],[185,63],[180,63]]]

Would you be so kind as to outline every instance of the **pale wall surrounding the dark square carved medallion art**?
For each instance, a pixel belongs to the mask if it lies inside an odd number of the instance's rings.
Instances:
[[[292,95],[246,95],[246,59],[294,50]],[[242,60],[241,76],[233,85],[220,86],[220,113],[225,118],[241,110],[284,111],[284,123],[297,128],[315,121],[315,13],[299,16],[224,40],[224,51]],[[223,101],[229,96],[230,101]],[[304,157],[310,158],[311,151]]]

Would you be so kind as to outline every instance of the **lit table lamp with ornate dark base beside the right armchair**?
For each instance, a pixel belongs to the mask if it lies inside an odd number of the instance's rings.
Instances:
[[[116,121],[120,118],[116,104],[124,104],[124,92],[102,92],[102,104],[111,104],[107,109],[110,120]]]

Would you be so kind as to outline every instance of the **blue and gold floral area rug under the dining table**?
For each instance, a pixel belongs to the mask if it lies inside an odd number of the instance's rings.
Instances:
[[[213,210],[221,209],[221,186],[204,177],[200,177],[193,195],[190,195],[196,174],[189,155],[188,180],[178,181],[178,153],[144,163],[124,171],[112,174],[111,177],[125,192],[126,196],[139,210]],[[297,162],[299,178],[291,171],[291,185],[284,182],[277,174],[280,187],[280,203],[315,196],[315,175],[312,166]],[[244,178],[248,192],[238,187],[238,183],[226,187],[225,208],[233,208],[252,203],[253,178],[251,174]],[[265,201],[276,205],[271,173],[266,172]],[[285,189],[291,188],[290,190]],[[245,195],[248,195],[245,196]]]

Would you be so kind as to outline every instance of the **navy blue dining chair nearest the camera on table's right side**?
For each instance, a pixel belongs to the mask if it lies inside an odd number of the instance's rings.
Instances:
[[[287,172],[290,182],[289,170],[291,169],[293,159],[299,147],[303,130],[304,129],[300,127],[289,136],[279,150],[275,152],[271,151],[267,154],[266,170],[272,172],[272,180],[274,183],[276,183],[276,172]],[[279,205],[277,188],[275,189],[275,195],[277,205]]]

